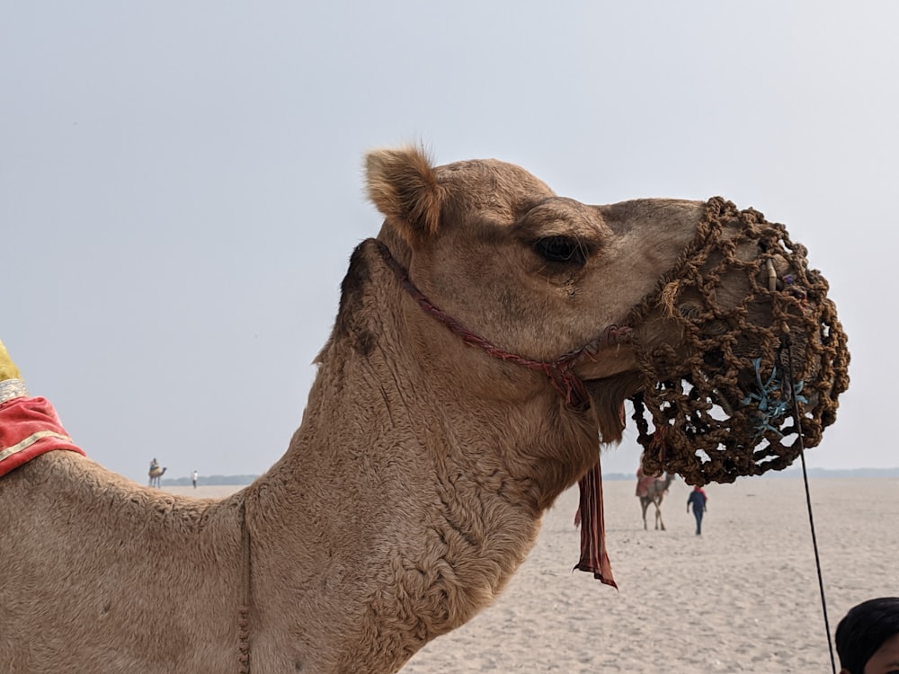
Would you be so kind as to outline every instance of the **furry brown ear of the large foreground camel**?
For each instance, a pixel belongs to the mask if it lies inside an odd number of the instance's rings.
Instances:
[[[372,150],[365,168],[369,199],[407,242],[437,234],[444,191],[422,148]]]

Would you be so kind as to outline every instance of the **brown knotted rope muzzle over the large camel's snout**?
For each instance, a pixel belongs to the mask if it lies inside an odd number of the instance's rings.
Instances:
[[[734,288],[744,296],[734,299]],[[644,386],[631,400],[647,474],[729,483],[781,470],[821,441],[849,386],[846,334],[827,290],[784,226],[708,201],[693,244],[628,321],[661,320],[682,335],[676,346],[634,341]]]

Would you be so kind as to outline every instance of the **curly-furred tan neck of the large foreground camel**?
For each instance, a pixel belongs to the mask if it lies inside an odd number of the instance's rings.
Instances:
[[[420,315],[376,303],[360,316],[346,297],[344,288],[301,428],[247,492],[256,539],[288,557],[254,558],[254,594],[266,615],[263,602],[279,605],[272,621],[291,611],[306,626],[330,625],[315,636],[334,649],[322,670],[343,671],[346,659],[393,671],[494,598],[580,466],[565,454],[577,443],[554,433],[566,424],[547,423],[565,412],[545,383],[536,395],[511,387],[514,404],[485,398],[464,384],[490,374],[492,364],[477,363],[483,354],[451,342],[420,348],[403,332]],[[398,293],[376,299],[402,302]],[[288,587],[290,560],[306,575]]]

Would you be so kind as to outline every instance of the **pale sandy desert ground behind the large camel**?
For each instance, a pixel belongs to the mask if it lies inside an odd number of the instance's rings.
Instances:
[[[571,572],[577,492],[565,492],[494,606],[428,644],[404,674],[831,670],[801,481],[708,486],[701,537],[686,484],[673,483],[663,503],[666,531],[652,519],[644,531],[635,483],[603,488],[619,590]],[[859,601],[899,594],[899,480],[818,479],[810,489],[832,634]]]

